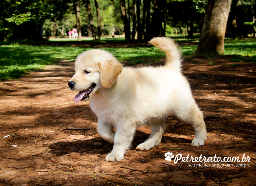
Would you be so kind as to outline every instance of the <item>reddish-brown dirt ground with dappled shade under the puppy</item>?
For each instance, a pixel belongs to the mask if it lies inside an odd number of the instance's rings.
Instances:
[[[184,61],[183,72],[205,114],[205,146],[191,147],[192,127],[170,117],[159,147],[135,150],[150,134],[140,127],[120,162],[104,161],[113,145],[98,135],[89,103],[72,101],[73,63],[0,82],[0,185],[256,185],[256,65],[197,56]],[[168,151],[188,160],[245,154],[250,162],[174,163],[165,160]]]

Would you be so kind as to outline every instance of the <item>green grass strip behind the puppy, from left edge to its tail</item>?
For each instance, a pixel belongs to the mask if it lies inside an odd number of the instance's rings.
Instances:
[[[77,55],[90,49],[92,48],[2,45],[0,46],[0,79],[17,79],[28,71],[56,64],[57,60],[61,59],[75,61]],[[135,63],[140,63],[145,58],[159,58],[165,55],[156,47],[100,49],[114,54],[118,61],[135,61]]]

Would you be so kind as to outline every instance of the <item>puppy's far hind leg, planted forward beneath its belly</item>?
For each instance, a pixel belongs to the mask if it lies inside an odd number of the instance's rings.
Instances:
[[[140,145],[138,145],[136,147],[137,150],[149,150],[160,144],[162,135],[165,130],[165,119],[160,121],[159,120],[152,121],[150,125],[151,125],[152,132],[149,138],[143,143],[141,143]]]

